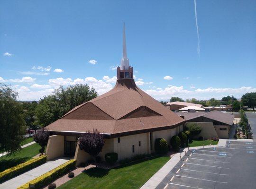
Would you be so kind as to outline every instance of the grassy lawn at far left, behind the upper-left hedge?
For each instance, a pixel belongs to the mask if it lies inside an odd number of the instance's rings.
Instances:
[[[16,154],[0,157],[0,172],[31,159],[35,155],[39,154],[39,148],[40,146],[36,143],[22,148]]]

